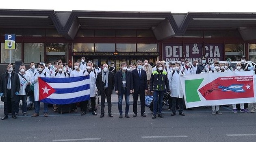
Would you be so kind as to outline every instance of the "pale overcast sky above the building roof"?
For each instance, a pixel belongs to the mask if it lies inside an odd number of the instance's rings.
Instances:
[[[0,9],[256,13],[255,4],[255,0],[11,0]]]

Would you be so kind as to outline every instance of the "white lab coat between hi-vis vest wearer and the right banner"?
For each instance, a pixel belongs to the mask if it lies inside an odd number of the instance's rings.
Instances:
[[[180,75],[182,74],[181,71],[179,71],[179,74],[175,71],[174,75],[172,75],[173,71],[170,71],[167,75],[168,80],[169,80],[169,87],[171,90],[171,97],[176,97],[176,98],[183,98],[183,90],[181,87],[181,82],[180,82]],[[183,72],[183,75],[186,75],[186,73]]]

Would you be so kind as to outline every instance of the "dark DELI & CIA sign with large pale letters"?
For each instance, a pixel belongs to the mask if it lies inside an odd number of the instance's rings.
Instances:
[[[214,59],[223,60],[223,44],[203,44],[202,43],[184,43],[184,48],[181,43],[165,43],[163,44],[163,60],[166,62],[180,61],[182,58],[193,62],[197,60],[201,62],[201,57],[206,56],[207,62],[212,62]]]

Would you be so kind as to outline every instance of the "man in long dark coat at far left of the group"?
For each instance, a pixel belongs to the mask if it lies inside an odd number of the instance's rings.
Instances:
[[[8,109],[11,109],[12,117],[17,118],[15,115],[15,100],[16,95],[20,91],[20,78],[18,73],[13,71],[13,65],[7,65],[7,71],[1,75],[0,81],[0,96],[1,101],[4,102],[4,117],[2,120],[8,118]],[[11,108],[8,108],[8,103],[11,102]]]

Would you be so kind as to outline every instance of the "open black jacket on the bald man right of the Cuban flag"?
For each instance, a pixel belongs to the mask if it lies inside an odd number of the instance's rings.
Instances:
[[[115,86],[115,77],[112,72],[108,72],[108,92],[107,94],[112,94],[112,90]],[[100,91],[100,95],[105,95],[105,87],[104,83],[102,82],[102,72],[98,73],[97,79],[96,79],[96,87]]]

